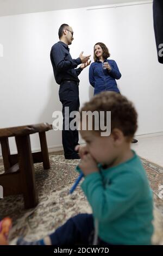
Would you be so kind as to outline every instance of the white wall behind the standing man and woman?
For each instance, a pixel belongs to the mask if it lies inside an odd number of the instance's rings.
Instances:
[[[53,77],[49,52],[58,41],[58,28],[68,23],[74,31],[71,56],[92,54],[104,42],[122,73],[118,87],[139,113],[137,135],[163,131],[162,66],[158,63],[152,4],[109,9],[71,9],[0,17],[0,127],[52,123],[61,110],[59,86]],[[80,78],[80,103],[89,100],[88,69]],[[61,145],[61,131],[47,133],[48,147]],[[11,139],[11,151],[15,151]],[[40,148],[32,136],[32,148]]]

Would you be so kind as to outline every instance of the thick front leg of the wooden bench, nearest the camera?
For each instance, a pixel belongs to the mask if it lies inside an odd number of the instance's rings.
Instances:
[[[18,136],[15,137],[15,139],[18,153],[18,164],[20,167],[21,186],[24,196],[24,206],[25,209],[29,209],[38,204],[30,137],[29,135]]]

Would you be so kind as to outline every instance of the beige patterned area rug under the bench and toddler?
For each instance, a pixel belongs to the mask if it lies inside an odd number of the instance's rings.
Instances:
[[[36,163],[35,177],[39,204],[24,210],[23,197],[9,196],[0,199],[0,217],[10,216],[13,227],[9,240],[25,236],[28,240],[40,239],[52,233],[68,218],[79,213],[91,213],[90,205],[80,186],[72,195],[69,190],[77,178],[74,170],[79,160],[65,160],[62,151],[49,154],[51,169],[44,170],[42,163]],[[163,200],[159,198],[159,185],[163,185],[163,168],[142,159],[149,182],[154,192],[154,244],[163,244]],[[3,172],[0,160],[0,173]]]

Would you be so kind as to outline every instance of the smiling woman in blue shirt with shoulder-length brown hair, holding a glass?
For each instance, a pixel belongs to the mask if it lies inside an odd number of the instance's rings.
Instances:
[[[89,69],[89,81],[95,88],[94,94],[105,90],[112,90],[120,93],[116,79],[121,78],[120,70],[115,60],[108,59],[110,53],[103,42],[97,42],[94,46],[94,60]]]

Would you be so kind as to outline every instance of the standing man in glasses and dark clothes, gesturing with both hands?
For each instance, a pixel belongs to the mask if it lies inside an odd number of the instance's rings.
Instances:
[[[59,28],[59,39],[57,44],[52,46],[51,62],[55,81],[60,84],[59,99],[62,103],[63,114],[63,129],[62,129],[62,144],[64,147],[65,159],[79,159],[79,155],[74,148],[78,145],[78,131],[72,131],[70,127],[66,127],[66,120],[70,124],[73,118],[67,117],[65,107],[69,108],[69,113],[79,110],[79,78],[80,72],[90,65],[90,55],[83,56],[80,53],[79,58],[72,59],[68,45],[72,44],[73,30],[67,24],[62,24]],[[78,69],[77,66],[82,64]]]

